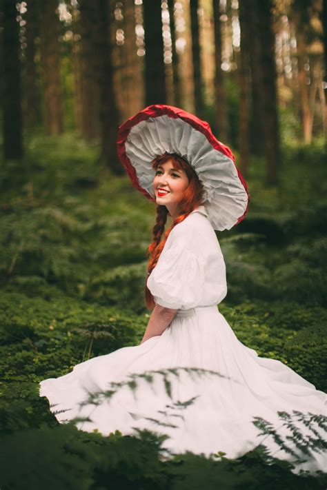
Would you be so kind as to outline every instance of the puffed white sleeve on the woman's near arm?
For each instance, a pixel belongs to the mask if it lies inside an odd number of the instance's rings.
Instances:
[[[204,285],[204,262],[181,245],[163,250],[147,285],[157,305],[189,309],[198,304]]]

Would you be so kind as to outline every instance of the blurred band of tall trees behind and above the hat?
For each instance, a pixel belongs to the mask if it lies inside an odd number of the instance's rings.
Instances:
[[[3,0],[4,156],[75,130],[119,174],[118,125],[168,103],[275,183],[283,141],[326,136],[326,17],[323,0]]]

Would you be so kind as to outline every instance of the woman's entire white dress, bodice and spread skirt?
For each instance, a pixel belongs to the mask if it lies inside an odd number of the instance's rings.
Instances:
[[[79,418],[79,429],[103,435],[150,429],[167,434],[163,447],[170,453],[207,457],[224,451],[236,458],[262,442],[276,458],[307,460],[297,468],[326,471],[326,453],[299,452],[277,414],[326,416],[326,394],[280,361],[258,357],[219,313],[226,268],[203,206],[172,229],[148,287],[157,304],[179,309],[177,316],[161,336],[41,381],[40,396],[57,420]],[[270,422],[291,452],[260,435],[255,417]],[[295,425],[313,436],[303,423]]]

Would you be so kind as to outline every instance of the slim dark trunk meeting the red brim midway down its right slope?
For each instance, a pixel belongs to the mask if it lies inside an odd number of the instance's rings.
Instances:
[[[225,73],[221,70],[221,21],[219,1],[212,0],[215,25],[215,119],[218,138],[228,141],[228,116],[225,90]]]

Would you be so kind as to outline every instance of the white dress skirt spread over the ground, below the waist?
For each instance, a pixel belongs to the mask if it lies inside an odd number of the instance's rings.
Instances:
[[[288,438],[290,420],[304,438],[313,436],[297,419],[301,413],[326,416],[326,394],[242,344],[216,305],[180,309],[161,336],[87,360],[40,385],[57,420],[75,420],[84,431],[106,436],[150,429],[168,436],[162,445],[168,454],[206,457],[223,451],[237,458],[262,444],[275,458],[306,460],[297,469],[326,471],[326,453],[301,453]],[[284,449],[273,434],[261,432],[267,422]],[[326,436],[317,424],[315,430]]]

